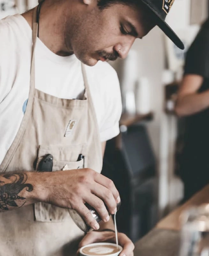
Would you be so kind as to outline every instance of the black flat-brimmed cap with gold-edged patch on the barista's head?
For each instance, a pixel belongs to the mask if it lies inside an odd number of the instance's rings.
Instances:
[[[165,22],[166,15],[171,9],[174,0],[141,0],[154,14],[157,20],[157,26],[168,36],[176,46],[184,49],[180,38],[176,35],[171,27]]]

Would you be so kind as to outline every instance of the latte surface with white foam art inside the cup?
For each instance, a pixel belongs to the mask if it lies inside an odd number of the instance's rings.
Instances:
[[[100,256],[111,255],[112,253],[119,252],[120,249],[114,245],[92,245],[82,249],[82,252],[88,255]]]

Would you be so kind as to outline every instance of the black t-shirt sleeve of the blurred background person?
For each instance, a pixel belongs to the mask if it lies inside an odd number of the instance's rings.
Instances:
[[[191,44],[185,61],[184,74],[209,78],[209,30],[202,29]]]

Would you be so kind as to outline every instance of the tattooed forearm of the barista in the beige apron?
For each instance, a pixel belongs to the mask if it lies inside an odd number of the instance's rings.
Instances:
[[[0,211],[45,201],[47,173],[19,172],[0,175]]]

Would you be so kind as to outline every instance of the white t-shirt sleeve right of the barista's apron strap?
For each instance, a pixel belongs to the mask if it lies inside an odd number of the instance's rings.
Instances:
[[[119,121],[122,112],[120,84],[116,71],[109,67],[102,86],[103,111],[99,123],[100,140],[106,141],[114,138],[120,132]]]

